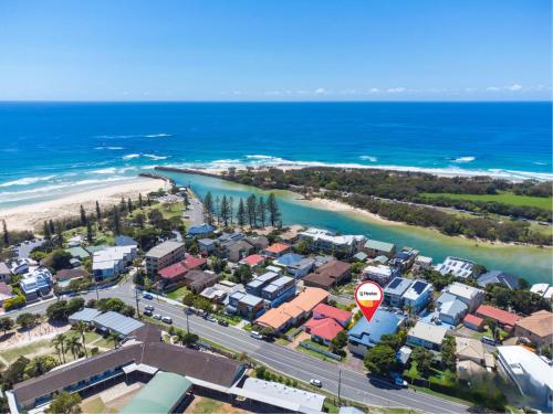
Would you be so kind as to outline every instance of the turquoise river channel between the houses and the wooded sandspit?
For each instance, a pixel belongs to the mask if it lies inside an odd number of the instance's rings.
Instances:
[[[221,179],[189,173],[164,172],[180,185],[191,185],[200,195],[210,191],[213,197],[233,197],[234,202],[249,194],[269,195],[254,187],[243,185]],[[526,245],[501,245],[479,243],[462,237],[450,237],[434,230],[400,223],[385,223],[353,212],[331,211],[301,200],[298,194],[284,190],[273,191],[282,212],[283,224],[301,224],[323,227],[343,234],[363,234],[397,247],[409,246],[420,254],[440,263],[447,256],[458,256],[484,265],[488,269],[500,269],[525,278],[531,284],[550,283],[553,276],[551,247]]]

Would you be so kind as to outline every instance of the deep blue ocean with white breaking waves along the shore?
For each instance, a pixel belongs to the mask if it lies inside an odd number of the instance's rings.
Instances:
[[[157,164],[553,179],[551,103],[0,103],[0,209]]]

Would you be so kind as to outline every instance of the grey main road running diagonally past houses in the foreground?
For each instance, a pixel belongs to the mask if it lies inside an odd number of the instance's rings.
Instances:
[[[128,305],[136,305],[135,290],[128,282],[100,290],[98,295],[101,298],[116,297]],[[92,291],[82,297],[92,299],[96,297],[96,294]],[[170,316],[175,326],[186,329],[187,316],[181,307],[164,300],[146,300],[142,297],[138,297],[138,301],[140,311],[144,310],[144,306],[153,305],[157,314]],[[10,316],[17,317],[18,314],[23,311],[44,314],[46,307],[51,304],[52,301],[36,304],[27,309],[11,312]],[[367,375],[340,367],[336,363],[325,362],[276,343],[253,339],[249,332],[242,329],[222,327],[196,315],[188,316],[188,327],[191,332],[237,352],[247,352],[252,359],[288,376],[304,382],[311,379],[321,380],[323,389],[336,395],[338,393],[338,378],[341,376],[340,394],[347,400],[367,405],[414,408],[425,413],[465,413],[469,408],[467,405],[425,393],[393,388],[385,382],[372,380]]]

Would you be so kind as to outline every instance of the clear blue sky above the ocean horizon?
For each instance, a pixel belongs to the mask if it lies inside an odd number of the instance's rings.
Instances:
[[[1,0],[0,99],[551,98],[549,0]]]

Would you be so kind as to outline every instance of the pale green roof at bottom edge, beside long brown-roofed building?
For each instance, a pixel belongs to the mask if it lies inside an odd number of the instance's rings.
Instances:
[[[119,413],[173,413],[191,388],[192,383],[186,376],[158,371]]]

